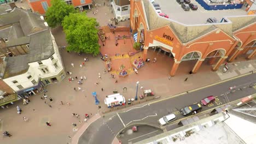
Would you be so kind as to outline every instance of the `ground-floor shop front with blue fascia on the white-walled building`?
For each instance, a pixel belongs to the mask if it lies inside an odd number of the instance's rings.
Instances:
[[[33,87],[22,89],[21,91],[18,91],[17,93],[21,97],[25,97],[26,95],[31,96],[31,95],[36,95],[36,94],[43,92],[43,88],[44,88],[44,84],[41,81],[38,81],[38,83],[36,85],[34,85]]]

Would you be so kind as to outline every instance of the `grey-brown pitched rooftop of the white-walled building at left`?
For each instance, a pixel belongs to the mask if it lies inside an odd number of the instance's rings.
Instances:
[[[47,59],[54,54],[51,32],[44,22],[40,15],[19,8],[0,15],[0,39],[8,39],[1,43],[0,49],[16,45],[29,46],[25,55],[7,58],[4,79],[25,73],[28,63]]]

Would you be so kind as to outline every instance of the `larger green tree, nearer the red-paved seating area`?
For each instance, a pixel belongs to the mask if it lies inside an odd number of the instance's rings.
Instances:
[[[67,51],[91,53],[94,56],[100,53],[98,44],[98,22],[95,18],[86,16],[86,13],[75,13],[66,16],[62,22]]]

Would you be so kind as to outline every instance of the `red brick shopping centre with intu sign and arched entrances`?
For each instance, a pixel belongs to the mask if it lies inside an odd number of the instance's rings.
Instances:
[[[144,43],[143,59],[149,49],[170,53],[174,59],[171,76],[185,61],[195,61],[191,71],[196,73],[203,62],[217,70],[223,62],[232,62],[237,56],[251,59],[256,55],[256,15],[228,16],[219,23],[187,25],[159,16],[149,1],[130,2],[131,31],[138,42]]]

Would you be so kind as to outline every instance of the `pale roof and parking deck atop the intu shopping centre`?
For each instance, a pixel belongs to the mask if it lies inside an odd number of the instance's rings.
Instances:
[[[147,27],[148,29],[156,29],[162,26],[170,26],[171,29],[174,31],[174,33],[178,36],[178,38],[182,41],[182,43],[189,43],[192,40],[195,40],[196,38],[199,38],[200,36],[211,33],[213,31],[217,31],[218,29],[222,30],[224,33],[232,37],[233,32],[237,31],[238,29],[241,29],[243,27],[249,26],[252,23],[256,23],[256,15],[242,15],[246,14],[245,11],[241,12],[240,15],[236,14],[234,11],[236,10],[224,10],[224,13],[228,14],[228,11],[233,11],[231,14],[232,16],[226,15],[223,13],[221,17],[225,19],[225,22],[219,22],[219,23],[206,23],[206,20],[208,17],[211,17],[208,15],[208,13],[214,13],[218,15],[218,13],[221,13],[223,10],[212,10],[212,11],[206,11],[205,13],[202,13],[206,17],[202,19],[203,16],[201,14],[198,15],[188,15],[185,13],[199,13],[200,11],[184,11],[181,8],[181,5],[179,5],[176,1],[170,1],[166,4],[161,4],[160,1],[164,2],[164,0],[156,0],[155,3],[159,3],[160,6],[163,5],[163,7],[167,7],[166,5],[170,5],[168,7],[168,11],[172,11],[173,9],[180,9],[181,13],[177,14],[173,13],[172,16],[169,15],[170,19],[167,19],[165,17],[159,16],[155,8],[153,7],[153,4],[150,3],[148,0],[143,0],[143,5],[146,13],[147,18]],[[193,1],[192,1],[193,2]],[[172,9],[173,7],[173,9]],[[200,6],[199,6],[200,7]],[[162,8],[162,7],[161,7]],[[165,13],[165,9],[161,9],[163,13]],[[241,10],[237,10],[241,11]],[[171,13],[171,12],[169,12]],[[238,15],[238,16],[237,16]],[[184,20],[194,20],[194,23],[186,22]]]

